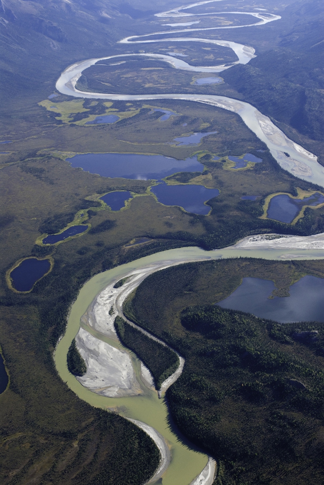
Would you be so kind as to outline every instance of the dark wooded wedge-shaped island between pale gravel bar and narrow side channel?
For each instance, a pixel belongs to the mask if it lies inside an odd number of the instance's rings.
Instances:
[[[150,369],[155,386],[160,389],[162,382],[179,367],[177,354],[161,343],[150,339],[120,316],[115,318],[115,329],[121,342],[133,350]]]

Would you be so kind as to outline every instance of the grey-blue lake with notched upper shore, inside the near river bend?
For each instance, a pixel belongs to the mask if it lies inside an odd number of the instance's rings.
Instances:
[[[290,287],[289,297],[269,299],[274,287],[269,280],[243,278],[242,285],[217,305],[280,323],[324,321],[324,279],[304,276]]]

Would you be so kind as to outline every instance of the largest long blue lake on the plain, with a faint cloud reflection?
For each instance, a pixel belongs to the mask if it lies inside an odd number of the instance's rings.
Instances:
[[[85,153],[67,159],[72,167],[81,167],[103,177],[123,177],[137,180],[161,179],[180,171],[200,171],[204,166],[196,157],[186,160],[163,155],[134,153]]]

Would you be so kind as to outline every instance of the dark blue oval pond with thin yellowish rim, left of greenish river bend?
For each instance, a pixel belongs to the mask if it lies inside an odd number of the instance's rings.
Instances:
[[[10,273],[13,287],[18,291],[29,291],[51,268],[49,259],[29,257]]]

